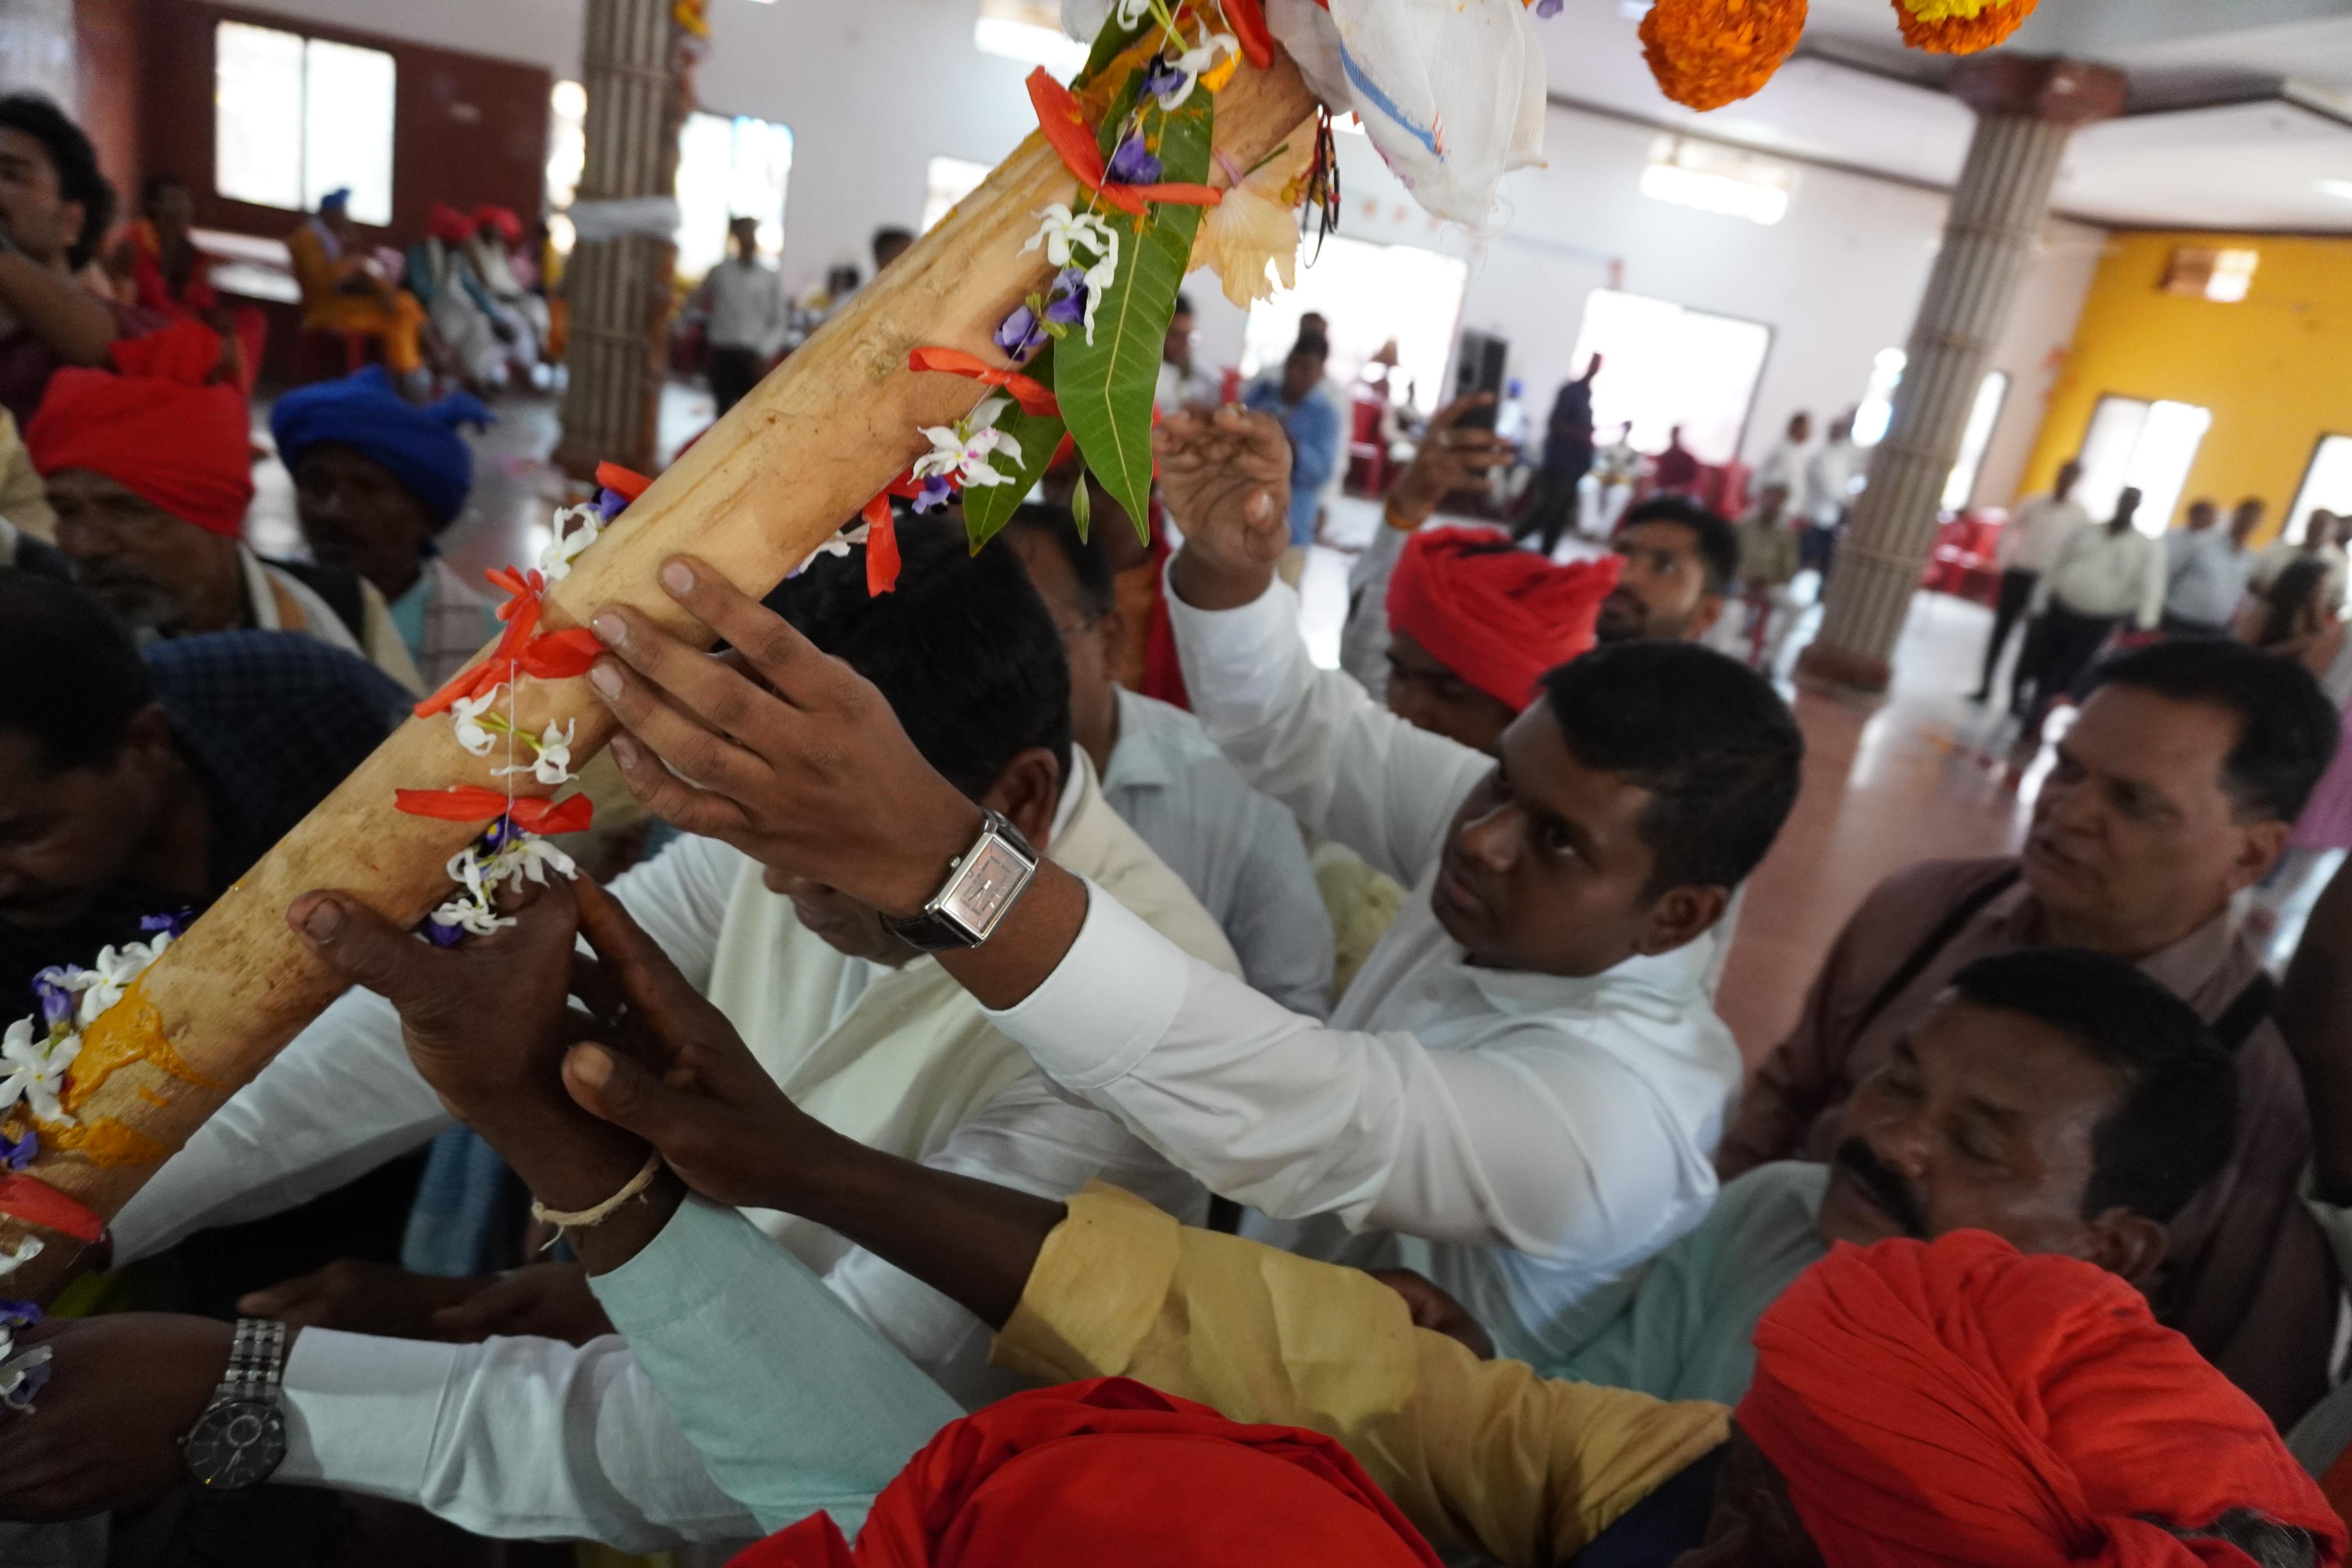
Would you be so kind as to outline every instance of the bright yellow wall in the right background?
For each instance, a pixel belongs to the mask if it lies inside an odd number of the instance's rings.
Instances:
[[[2234,306],[2159,292],[2176,244],[2260,252],[2253,289]],[[2263,534],[2277,534],[2319,437],[2352,435],[2352,240],[2117,233],[2051,388],[2025,494],[2049,489],[2110,393],[2211,409],[2180,503],[2263,496]]]

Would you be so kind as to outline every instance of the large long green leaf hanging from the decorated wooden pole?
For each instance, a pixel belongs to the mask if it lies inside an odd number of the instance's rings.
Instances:
[[[1211,94],[1195,92],[1162,118],[1160,179],[1209,179],[1211,103]],[[1087,468],[1148,541],[1152,393],[1202,209],[1155,202],[1141,221],[1115,209],[1103,216],[1120,233],[1120,275],[1094,310],[1094,343],[1084,329],[1058,343],[1054,395]]]

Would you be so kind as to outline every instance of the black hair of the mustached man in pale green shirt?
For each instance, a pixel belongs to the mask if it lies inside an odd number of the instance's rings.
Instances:
[[[1976,959],[1952,990],[2046,1023],[2124,1079],[2091,1133],[2082,1218],[2129,1208],[2171,1220],[2237,1147],[2237,1063],[2187,1001],[2136,966],[2082,947]]]

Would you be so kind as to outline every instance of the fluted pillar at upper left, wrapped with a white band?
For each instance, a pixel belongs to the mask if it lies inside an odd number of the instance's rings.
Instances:
[[[576,202],[666,197],[677,186],[680,28],[670,0],[588,0],[581,85],[586,160]],[[588,477],[600,461],[654,470],[670,324],[668,235],[581,240],[564,268],[564,435],[555,463]]]

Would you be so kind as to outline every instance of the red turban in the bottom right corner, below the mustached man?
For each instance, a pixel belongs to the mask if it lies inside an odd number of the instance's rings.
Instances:
[[[1837,1246],[1757,1324],[1740,1429],[1830,1568],[2244,1568],[2234,1509],[2343,1523],[2246,1394],[2129,1284],[1964,1229]]]

